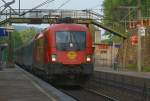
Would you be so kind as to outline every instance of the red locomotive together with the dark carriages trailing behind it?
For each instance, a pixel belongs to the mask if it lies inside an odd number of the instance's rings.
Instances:
[[[31,52],[23,52],[27,48],[32,48]],[[36,35],[24,49],[17,50],[19,54],[18,51],[22,51],[19,57],[24,58],[21,63],[26,65],[28,61],[33,71],[43,71],[50,78],[79,79],[93,72],[92,33],[83,24],[53,24]]]

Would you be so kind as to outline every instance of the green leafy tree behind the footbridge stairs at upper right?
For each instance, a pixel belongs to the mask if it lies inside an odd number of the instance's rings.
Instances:
[[[142,17],[150,17],[149,9],[150,1],[141,0]],[[130,21],[137,19],[137,8],[126,8],[126,7],[137,7],[137,0],[104,0],[103,9],[104,17],[107,20],[103,20],[103,23],[107,26],[112,23],[121,23],[123,21]],[[105,32],[112,41],[119,42],[121,39],[111,35],[110,32]]]

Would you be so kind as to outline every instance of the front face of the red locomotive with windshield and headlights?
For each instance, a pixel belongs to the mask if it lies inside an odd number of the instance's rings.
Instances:
[[[50,60],[55,74],[92,74],[92,34],[86,26],[58,25],[54,31],[54,44]]]

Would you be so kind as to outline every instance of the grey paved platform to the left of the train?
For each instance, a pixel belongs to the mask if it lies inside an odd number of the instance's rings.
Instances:
[[[15,66],[0,71],[0,101],[75,101]]]

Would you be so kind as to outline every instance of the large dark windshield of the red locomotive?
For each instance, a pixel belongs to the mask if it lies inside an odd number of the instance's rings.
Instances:
[[[86,48],[86,32],[59,31],[56,32],[57,50],[83,50]]]

